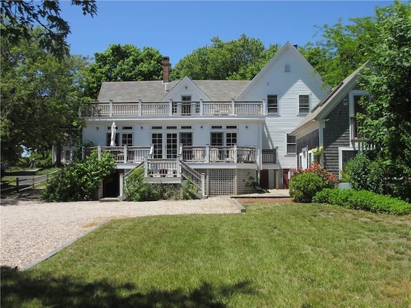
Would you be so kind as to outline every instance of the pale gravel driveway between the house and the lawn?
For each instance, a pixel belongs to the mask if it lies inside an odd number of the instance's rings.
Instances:
[[[155,202],[41,202],[1,199],[1,265],[23,267],[107,220],[178,214],[240,213],[229,197]]]

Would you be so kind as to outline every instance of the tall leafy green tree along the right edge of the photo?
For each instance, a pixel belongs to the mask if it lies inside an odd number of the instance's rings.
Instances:
[[[373,68],[362,71],[362,87],[370,102],[362,132],[370,139],[392,177],[411,177],[411,4],[376,10],[376,41]]]

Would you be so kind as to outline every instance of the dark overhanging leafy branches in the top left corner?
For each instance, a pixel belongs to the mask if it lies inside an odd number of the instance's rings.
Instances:
[[[97,12],[94,0],[71,0],[71,5],[82,8],[82,14],[94,16]],[[1,1],[1,36],[8,44],[16,45],[33,38],[32,30],[39,25],[41,36],[38,44],[59,58],[69,54],[65,42],[70,33],[69,23],[60,16],[60,3],[55,1]]]

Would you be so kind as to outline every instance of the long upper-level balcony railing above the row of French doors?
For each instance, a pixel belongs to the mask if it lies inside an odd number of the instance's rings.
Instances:
[[[190,116],[190,115],[265,115],[265,101],[258,102],[90,102],[79,110],[85,117],[114,116]]]

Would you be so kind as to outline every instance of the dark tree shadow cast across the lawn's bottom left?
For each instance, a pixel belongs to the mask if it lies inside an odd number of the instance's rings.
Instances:
[[[115,285],[109,281],[85,283],[69,276],[32,277],[29,272],[19,272],[1,267],[1,307],[196,307],[223,308],[222,298],[234,294],[254,294],[249,281],[232,285],[214,286],[203,282],[199,287],[183,289],[153,289],[138,292],[133,284]]]

